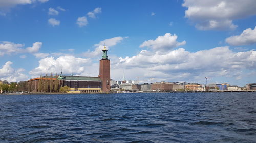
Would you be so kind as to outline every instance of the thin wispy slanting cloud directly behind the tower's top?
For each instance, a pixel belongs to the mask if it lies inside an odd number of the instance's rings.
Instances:
[[[98,56],[101,54],[102,49],[104,48],[104,45],[106,46],[106,49],[109,49],[109,47],[112,47],[114,45],[116,45],[117,43],[120,43],[124,38],[128,38],[128,37],[114,37],[114,38],[110,38],[110,39],[105,39],[103,41],[100,41],[98,44],[95,44],[94,47],[94,51],[90,51],[88,50],[86,53],[84,53],[84,56],[93,58],[95,56]]]

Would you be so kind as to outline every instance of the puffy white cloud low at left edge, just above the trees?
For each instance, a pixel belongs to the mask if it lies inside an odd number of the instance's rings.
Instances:
[[[20,69],[13,69],[12,65],[13,63],[11,61],[8,61],[5,63],[5,65],[2,66],[0,69],[0,79],[1,80],[7,80],[8,82],[19,82],[19,81],[25,81],[28,80],[28,76],[22,72],[25,70]]]

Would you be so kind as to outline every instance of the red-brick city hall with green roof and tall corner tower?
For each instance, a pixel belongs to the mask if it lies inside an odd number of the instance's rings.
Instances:
[[[38,77],[28,80],[28,85],[30,86],[30,92],[39,92],[38,86],[39,81],[47,82],[58,82],[59,87],[68,86],[70,87],[70,92],[75,93],[109,93],[110,92],[110,59],[108,59],[108,50],[104,46],[102,50],[102,58],[99,62],[99,76],[67,76],[63,75],[62,72],[57,77]],[[54,82],[55,81],[55,82]],[[50,89],[50,87],[48,87]]]

